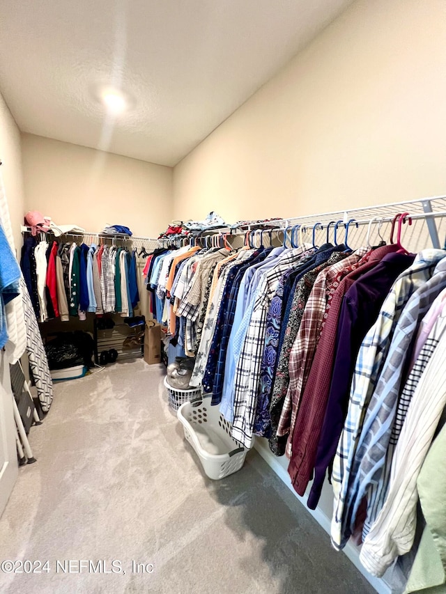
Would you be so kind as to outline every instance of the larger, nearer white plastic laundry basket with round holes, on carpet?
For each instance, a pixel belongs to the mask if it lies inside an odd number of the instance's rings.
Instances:
[[[210,396],[197,402],[185,402],[177,416],[184,435],[197,453],[209,478],[219,479],[243,467],[247,449],[231,437],[231,423],[210,405]]]

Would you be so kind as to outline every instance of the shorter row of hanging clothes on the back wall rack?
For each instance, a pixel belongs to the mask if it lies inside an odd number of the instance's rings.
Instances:
[[[131,317],[139,302],[137,250],[102,242],[25,237],[20,265],[36,318],[45,322],[86,313]]]

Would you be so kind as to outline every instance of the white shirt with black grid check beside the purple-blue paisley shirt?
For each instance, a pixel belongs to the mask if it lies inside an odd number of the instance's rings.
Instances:
[[[280,277],[300,260],[301,254],[301,249],[293,249],[279,256],[277,265],[263,274],[254,298],[254,308],[236,368],[232,425],[232,437],[247,448],[252,446],[252,428],[268,308]]]

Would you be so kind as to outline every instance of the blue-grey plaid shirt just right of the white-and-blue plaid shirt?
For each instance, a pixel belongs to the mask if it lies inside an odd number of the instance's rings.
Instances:
[[[353,530],[357,510],[362,498],[367,493],[367,519],[364,524],[364,536],[367,536],[371,524],[378,517],[387,493],[392,462],[388,447],[397,413],[397,402],[406,366],[406,357],[408,357],[418,325],[434,299],[445,287],[445,283],[446,258],[443,258],[436,266],[432,278],[415,290],[403,309],[383,370],[380,373],[369,407],[367,407],[351,467],[351,478],[354,480],[348,489],[348,500],[344,507],[344,513],[346,517],[350,518],[349,522]]]

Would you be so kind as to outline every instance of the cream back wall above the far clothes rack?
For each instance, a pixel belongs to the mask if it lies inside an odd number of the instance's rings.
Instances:
[[[56,224],[105,224],[157,237],[172,218],[172,169],[93,148],[22,135],[25,203]]]

